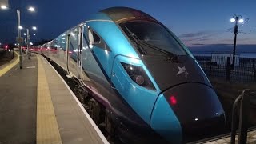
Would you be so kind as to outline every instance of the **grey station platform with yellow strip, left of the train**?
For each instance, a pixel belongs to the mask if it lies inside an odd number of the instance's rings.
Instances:
[[[0,67],[0,144],[109,143],[46,58],[18,62]]]

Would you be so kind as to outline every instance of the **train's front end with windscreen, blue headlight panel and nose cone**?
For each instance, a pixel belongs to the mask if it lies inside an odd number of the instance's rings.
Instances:
[[[115,88],[133,110],[171,143],[191,142],[225,126],[225,113],[206,74],[186,46],[148,14],[102,11],[114,20],[136,57],[114,58]]]

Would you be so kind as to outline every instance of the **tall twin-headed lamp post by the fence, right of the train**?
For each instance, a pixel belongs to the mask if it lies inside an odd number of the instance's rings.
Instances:
[[[234,48],[233,48],[233,58],[232,58],[232,65],[231,69],[234,70],[234,55],[235,55],[235,48],[237,45],[237,34],[238,34],[238,23],[244,22],[241,15],[234,15],[233,18],[230,19],[230,22],[235,22],[234,24]]]

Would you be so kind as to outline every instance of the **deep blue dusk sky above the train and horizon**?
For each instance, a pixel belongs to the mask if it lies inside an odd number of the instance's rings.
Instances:
[[[254,0],[9,0],[9,6],[9,10],[0,11],[0,42],[14,42],[18,35],[15,11],[18,7],[22,10],[21,25],[38,27],[37,35],[32,37],[35,42],[56,38],[98,10],[127,6],[152,15],[189,47],[233,44],[234,23],[230,18],[240,14],[249,19],[239,26],[237,43],[256,48]],[[28,6],[34,6],[36,12],[27,12]]]

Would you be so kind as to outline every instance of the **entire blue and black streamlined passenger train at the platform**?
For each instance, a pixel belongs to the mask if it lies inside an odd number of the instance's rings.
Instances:
[[[193,54],[141,10],[100,10],[35,52],[80,82],[94,122],[123,143],[192,142],[226,125]]]

